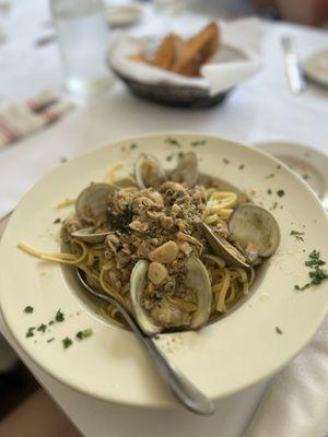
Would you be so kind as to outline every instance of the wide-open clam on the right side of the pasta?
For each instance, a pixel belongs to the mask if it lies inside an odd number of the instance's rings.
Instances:
[[[271,257],[280,243],[280,229],[273,215],[254,203],[237,206],[229,221],[233,246],[225,238],[215,235],[213,229],[202,223],[207,239],[213,251],[229,265],[249,268]]]

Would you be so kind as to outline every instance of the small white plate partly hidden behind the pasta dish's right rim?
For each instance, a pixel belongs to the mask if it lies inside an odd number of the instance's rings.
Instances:
[[[308,145],[268,141],[255,147],[273,155],[296,173],[321,200],[328,210],[328,156]]]

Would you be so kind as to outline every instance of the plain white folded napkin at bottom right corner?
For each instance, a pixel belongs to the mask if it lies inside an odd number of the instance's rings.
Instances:
[[[328,319],[270,383],[244,437],[327,437]]]

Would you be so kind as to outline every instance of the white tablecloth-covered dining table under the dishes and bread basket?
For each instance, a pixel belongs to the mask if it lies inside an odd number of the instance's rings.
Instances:
[[[45,0],[13,3],[8,23],[10,39],[0,46],[0,104],[1,97],[21,99],[44,87],[62,91],[56,45],[34,47],[34,40],[46,33],[47,19]],[[143,27],[149,24],[142,23]],[[296,37],[302,57],[328,45],[327,33],[262,22],[263,68],[220,107],[195,111],[157,107],[134,98],[117,84],[102,98],[81,104],[58,125],[0,152],[1,180],[11,180],[13,175],[24,180],[24,184],[13,180],[5,189],[0,184],[0,216],[15,206],[17,198],[36,179],[58,165],[61,156],[70,157],[143,132],[194,130],[249,144],[261,140],[292,140],[328,152],[328,92],[311,85],[300,97],[290,94],[280,48],[284,33]],[[238,437],[266,389],[262,383],[216,402],[216,413],[211,418],[196,417],[178,409],[145,411],[112,405],[78,393],[38,369],[10,338],[1,317],[0,331],[85,436]]]

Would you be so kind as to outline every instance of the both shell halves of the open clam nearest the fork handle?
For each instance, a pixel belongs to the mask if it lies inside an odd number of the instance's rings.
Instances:
[[[192,315],[189,327],[185,329],[199,329],[204,326],[210,316],[211,308],[211,282],[207,269],[202,262],[195,257],[187,258],[185,261],[186,275],[185,285],[192,288],[197,294],[197,310]],[[134,265],[130,279],[130,302],[134,317],[142,329],[149,335],[155,335],[164,331],[164,328],[155,324],[147,310],[142,307],[142,297],[147,287],[149,262],[140,260]],[[177,327],[181,328],[181,327]]]

